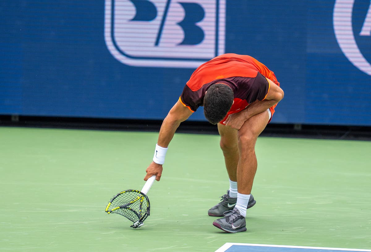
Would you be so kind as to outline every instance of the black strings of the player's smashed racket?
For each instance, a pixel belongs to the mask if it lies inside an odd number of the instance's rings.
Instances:
[[[111,200],[108,211],[137,222],[148,215],[148,198],[136,190],[124,191]]]

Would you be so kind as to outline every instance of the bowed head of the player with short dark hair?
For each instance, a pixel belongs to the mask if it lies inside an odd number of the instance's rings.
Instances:
[[[213,84],[204,97],[204,114],[211,124],[217,124],[230,110],[233,104],[233,90],[226,84]]]

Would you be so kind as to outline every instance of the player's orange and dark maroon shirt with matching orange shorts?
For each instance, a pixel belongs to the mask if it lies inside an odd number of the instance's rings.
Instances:
[[[269,91],[267,78],[280,85],[275,74],[263,63],[248,55],[227,53],[217,56],[200,65],[187,81],[180,102],[192,112],[203,106],[207,89],[216,83],[223,83],[232,88],[234,103],[228,115],[240,112],[256,100],[262,101]],[[275,107],[270,108],[272,115]]]

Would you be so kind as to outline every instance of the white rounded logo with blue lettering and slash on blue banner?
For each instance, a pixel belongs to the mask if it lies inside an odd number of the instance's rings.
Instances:
[[[106,0],[104,36],[121,63],[196,68],[224,53],[225,0]]]

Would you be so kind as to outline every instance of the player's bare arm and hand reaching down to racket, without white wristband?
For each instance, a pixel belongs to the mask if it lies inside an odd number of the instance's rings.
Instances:
[[[170,141],[173,139],[175,131],[179,127],[180,123],[187,120],[192,114],[187,107],[185,107],[180,101],[177,101],[173,108],[169,111],[164,121],[162,122],[160,133],[158,134],[157,145],[163,148],[167,148]],[[162,174],[162,164],[157,164],[154,161],[151,162],[150,166],[146,169],[147,175],[144,180],[147,181],[152,175],[156,175],[156,180],[160,181]]]

